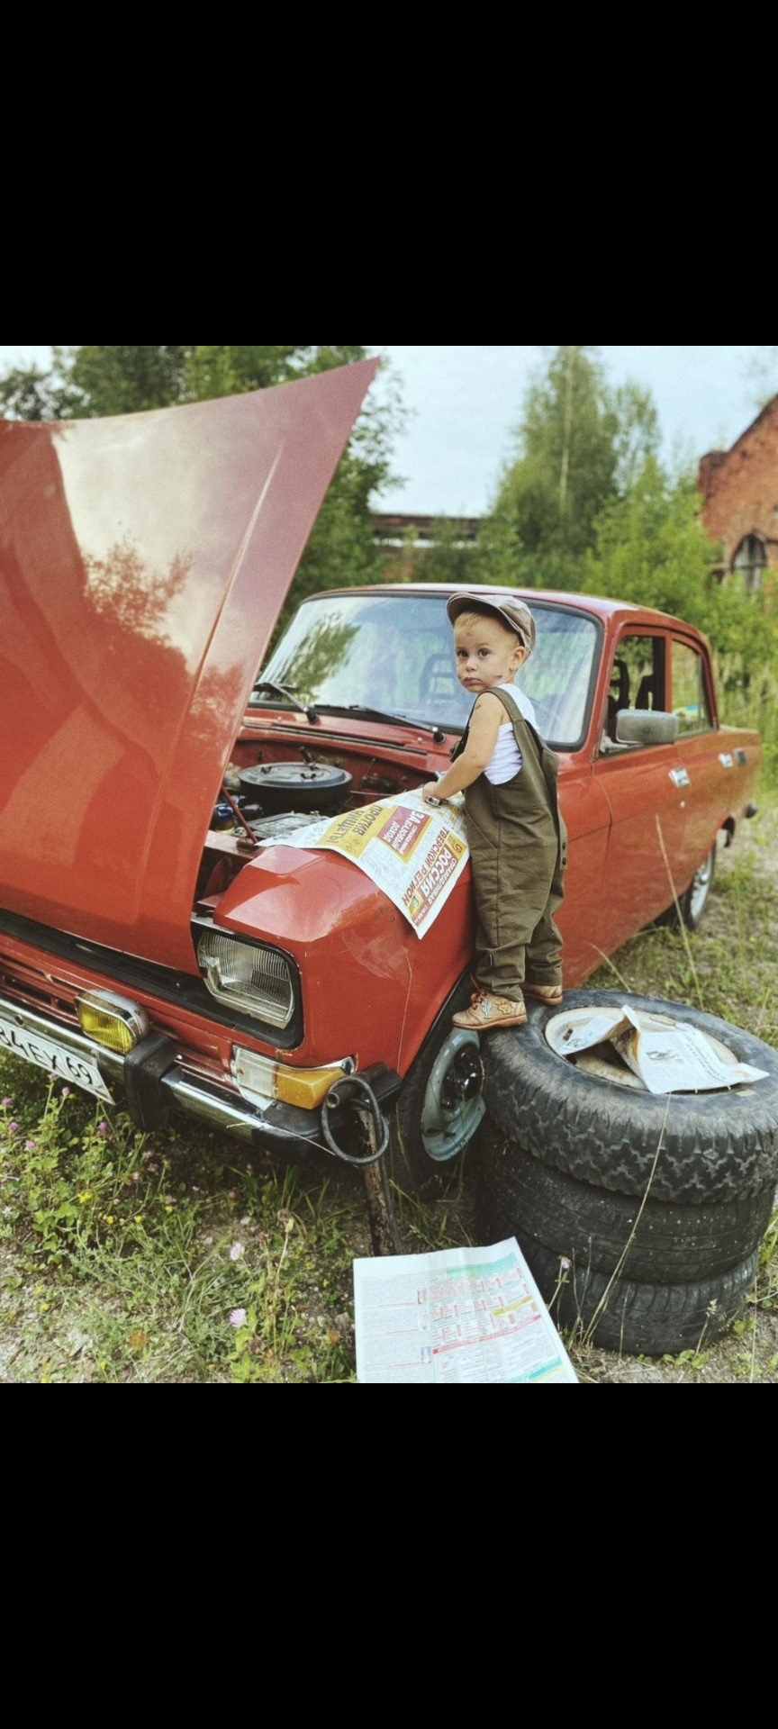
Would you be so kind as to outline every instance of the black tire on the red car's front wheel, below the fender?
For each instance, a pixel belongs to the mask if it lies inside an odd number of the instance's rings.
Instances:
[[[467,1008],[470,998],[472,982],[463,979],[408,1069],[391,1113],[386,1157],[389,1176],[405,1195],[443,1193],[484,1117],[479,1036],[451,1025],[451,1015]]]

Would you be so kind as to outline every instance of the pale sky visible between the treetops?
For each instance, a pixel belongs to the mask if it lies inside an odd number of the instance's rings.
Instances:
[[[513,455],[527,387],[552,348],[379,348],[399,386],[408,424],[394,443],[401,479],[373,498],[380,512],[479,517]],[[778,391],[778,349],[769,348],[596,348],[609,382],[650,391],[667,463],[697,465],[709,450],[728,450]],[[0,372],[47,367],[50,348],[0,348]],[[759,370],[762,368],[762,370]],[[768,368],[764,372],[764,368]],[[372,396],[382,398],[379,375]]]

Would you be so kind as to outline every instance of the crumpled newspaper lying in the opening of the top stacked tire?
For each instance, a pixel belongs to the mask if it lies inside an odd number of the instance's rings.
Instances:
[[[577,1008],[555,1015],[546,1039],[558,1056],[576,1058],[612,1044],[648,1093],[709,1093],[762,1081],[766,1069],[740,1063],[719,1039],[654,1010]]]

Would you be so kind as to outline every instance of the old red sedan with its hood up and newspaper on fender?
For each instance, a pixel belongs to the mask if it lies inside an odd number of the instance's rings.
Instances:
[[[420,939],[353,859],[294,842],[448,766],[469,709],[451,590],[316,595],[258,674],[373,370],[0,424],[0,1044],[121,1089],[142,1129],[190,1112],[284,1158],[346,1150],[368,1100],[420,1188],[482,1115],[479,1041],[451,1027],[469,868]],[[719,724],[693,628],[522,598],[576,986],[674,896],[698,922],[761,743]]]

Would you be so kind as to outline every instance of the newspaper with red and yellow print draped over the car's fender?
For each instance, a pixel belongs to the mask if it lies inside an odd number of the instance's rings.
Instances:
[[[403,792],[261,842],[278,844],[341,852],[389,896],[417,937],[424,937],[469,859],[465,801],[456,794],[446,804],[429,806],[418,792]]]

